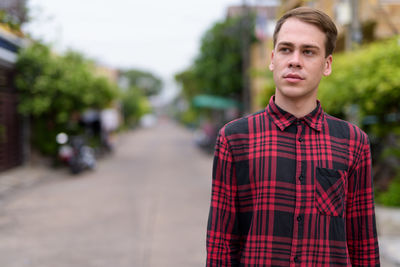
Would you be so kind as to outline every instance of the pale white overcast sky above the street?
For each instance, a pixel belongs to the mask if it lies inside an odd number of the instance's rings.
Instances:
[[[56,51],[70,48],[109,67],[168,79],[191,65],[205,31],[242,1],[28,0],[32,21],[24,29]]]

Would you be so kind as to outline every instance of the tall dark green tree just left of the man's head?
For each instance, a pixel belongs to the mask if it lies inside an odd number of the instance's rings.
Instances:
[[[243,88],[243,39],[255,41],[253,20],[243,28],[244,17],[216,23],[202,38],[194,75],[203,93],[241,98]],[[249,48],[247,48],[249,49]]]

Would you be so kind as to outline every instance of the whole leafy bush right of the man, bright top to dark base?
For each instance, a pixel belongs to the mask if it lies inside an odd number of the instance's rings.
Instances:
[[[321,82],[319,99],[332,115],[346,117],[350,109],[358,111],[356,121],[372,144],[377,201],[400,206],[400,148],[396,141],[400,136],[400,39],[333,58],[333,72]]]

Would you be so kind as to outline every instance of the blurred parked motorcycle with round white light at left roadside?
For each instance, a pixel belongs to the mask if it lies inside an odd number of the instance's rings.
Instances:
[[[83,170],[96,167],[94,150],[86,145],[82,136],[69,137],[66,133],[59,133],[56,141],[60,145],[58,157],[69,166],[71,173],[78,174]]]

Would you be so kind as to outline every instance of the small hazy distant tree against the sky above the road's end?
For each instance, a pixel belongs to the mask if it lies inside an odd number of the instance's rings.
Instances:
[[[129,87],[135,87],[143,92],[145,96],[160,93],[163,83],[153,73],[142,70],[125,70],[122,76],[128,79]]]

